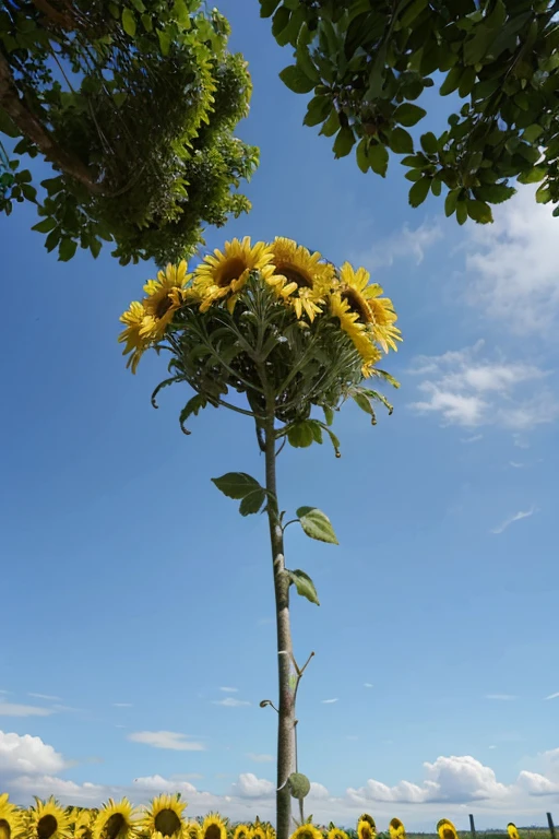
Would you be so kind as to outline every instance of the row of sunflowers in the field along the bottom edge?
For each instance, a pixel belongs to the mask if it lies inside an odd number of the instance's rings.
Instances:
[[[269,822],[258,817],[252,824],[229,824],[216,813],[204,819],[185,818],[187,803],[180,794],[163,794],[144,807],[134,807],[128,799],[109,799],[99,810],[63,807],[55,797],[35,799],[31,807],[17,807],[7,793],[0,794],[0,839],[275,839]],[[508,825],[510,839],[520,839],[516,827]],[[292,839],[376,839],[377,825],[372,816],[364,813],[356,830],[345,831],[332,823],[318,827],[304,823]],[[406,839],[406,830],[399,818],[390,822],[390,839]],[[447,818],[437,825],[439,839],[459,839],[456,828]]]

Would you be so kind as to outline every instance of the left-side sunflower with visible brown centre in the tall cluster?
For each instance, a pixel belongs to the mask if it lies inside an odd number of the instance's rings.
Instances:
[[[174,314],[183,303],[197,299],[195,293],[188,286],[192,274],[187,274],[185,260],[178,265],[167,265],[157,272],[157,280],[148,280],[144,285],[144,320],[140,335],[157,341],[163,338],[173,320]]]

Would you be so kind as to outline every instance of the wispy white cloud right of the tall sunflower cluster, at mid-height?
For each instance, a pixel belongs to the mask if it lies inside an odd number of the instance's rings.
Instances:
[[[409,407],[435,414],[443,425],[477,428],[496,425],[526,432],[559,417],[559,402],[549,390],[550,376],[533,364],[483,357],[484,341],[442,355],[418,356],[409,374],[421,377],[421,399]],[[463,441],[474,442],[478,435]]]

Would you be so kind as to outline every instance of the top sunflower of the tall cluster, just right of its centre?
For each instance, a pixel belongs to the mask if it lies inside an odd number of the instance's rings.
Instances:
[[[321,262],[322,256],[318,251],[311,253],[302,245],[282,236],[274,239],[270,249],[274,274],[267,280],[269,284],[293,306],[299,320],[305,312],[312,322],[334,282],[333,265]]]

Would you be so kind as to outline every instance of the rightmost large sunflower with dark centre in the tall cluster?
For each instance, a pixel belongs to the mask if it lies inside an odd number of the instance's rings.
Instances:
[[[370,323],[376,341],[385,353],[389,347],[396,351],[396,341],[402,341],[400,329],[394,326],[397,315],[392,300],[380,297],[382,288],[378,283],[369,285],[370,275],[365,268],[354,271],[349,262],[340,269],[340,295],[361,323]]]

